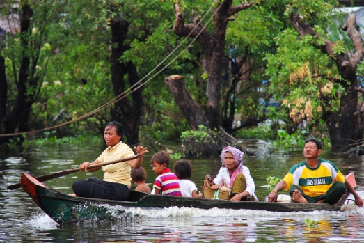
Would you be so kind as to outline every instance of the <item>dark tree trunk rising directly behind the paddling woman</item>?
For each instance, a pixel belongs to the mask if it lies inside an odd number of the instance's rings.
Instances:
[[[118,97],[125,92],[124,77],[127,74],[129,86],[134,86],[139,81],[136,67],[132,62],[121,63],[120,56],[129,49],[124,45],[127,39],[129,23],[125,20],[111,20],[112,50],[111,50],[111,81],[113,83],[113,93]],[[135,146],[139,143],[139,125],[141,123],[141,109],[143,107],[142,88],[136,86],[132,88],[132,102],[127,98],[122,98],[113,107],[111,118],[120,120],[124,126],[127,144]]]

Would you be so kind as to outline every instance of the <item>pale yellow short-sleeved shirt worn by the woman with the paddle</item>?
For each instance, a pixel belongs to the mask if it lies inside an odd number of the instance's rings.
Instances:
[[[111,162],[113,160],[125,159],[127,157],[135,156],[132,148],[120,141],[116,146],[109,146],[102,152],[97,158],[100,162]],[[130,178],[131,167],[127,162],[120,162],[117,164],[109,164],[108,166],[102,166],[104,171],[104,181],[117,182],[125,184],[130,187],[132,185],[132,179]]]

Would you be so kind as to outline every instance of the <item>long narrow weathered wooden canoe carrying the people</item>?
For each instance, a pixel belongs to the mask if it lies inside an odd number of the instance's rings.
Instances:
[[[354,180],[354,174],[347,180]],[[296,212],[314,210],[340,210],[340,207],[347,201],[349,191],[342,196],[335,205],[326,203],[268,203],[241,201],[230,202],[219,199],[188,198],[179,196],[149,195],[139,191],[132,191],[129,201],[113,201],[96,198],[81,198],[63,194],[61,191],[49,188],[39,182],[28,173],[22,173],[22,188],[38,204],[38,206],[58,223],[70,221],[106,219],[111,214],[107,207],[194,207],[199,209],[234,209],[234,210],[267,210],[276,212]],[[107,207],[105,207],[105,205]]]

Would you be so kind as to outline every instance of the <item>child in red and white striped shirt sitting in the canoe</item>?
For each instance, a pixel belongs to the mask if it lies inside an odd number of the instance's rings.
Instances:
[[[168,168],[171,163],[171,158],[168,152],[157,152],[150,159],[153,172],[157,175],[155,178],[154,194],[162,194],[169,196],[182,196],[180,183],[177,176]]]

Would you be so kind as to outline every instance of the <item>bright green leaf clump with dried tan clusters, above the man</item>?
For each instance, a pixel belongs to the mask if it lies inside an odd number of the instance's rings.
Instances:
[[[331,77],[339,77],[338,70],[329,56],[313,47],[315,38],[298,37],[291,29],[277,36],[277,53],[266,58],[266,74],[271,77],[269,92],[275,99],[284,97],[283,106],[290,110],[294,123],[305,119],[315,124],[323,111],[338,110],[340,94],[345,90],[330,81]]]

